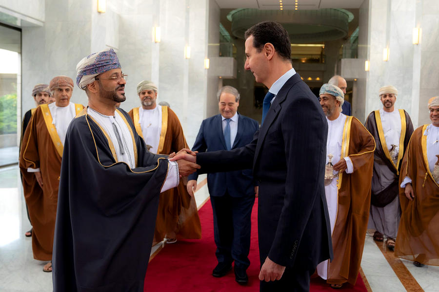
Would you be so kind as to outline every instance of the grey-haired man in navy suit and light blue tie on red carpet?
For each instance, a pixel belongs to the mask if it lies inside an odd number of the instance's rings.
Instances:
[[[220,114],[201,123],[193,151],[236,149],[250,143],[259,129],[257,121],[237,112],[239,92],[235,88],[224,86],[217,97]],[[197,173],[188,177],[187,190],[192,196],[197,178]],[[250,265],[251,213],[257,191],[254,185],[251,169],[207,175],[218,259],[212,275],[222,277],[232,269],[235,261],[235,279],[239,284],[248,282],[245,271]]]

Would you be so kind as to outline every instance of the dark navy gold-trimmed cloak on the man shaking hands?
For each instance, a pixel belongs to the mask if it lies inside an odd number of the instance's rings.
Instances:
[[[53,249],[54,292],[143,292],[168,160],[146,150],[128,114],[136,168],[117,162],[84,110],[67,130]],[[110,146],[111,145],[111,146]]]

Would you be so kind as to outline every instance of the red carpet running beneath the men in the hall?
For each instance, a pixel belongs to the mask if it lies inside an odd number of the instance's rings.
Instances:
[[[233,269],[224,277],[215,278],[212,270],[217,265],[213,235],[212,206],[207,201],[199,211],[201,239],[179,240],[167,244],[148,265],[145,276],[145,292],[238,292],[259,291],[259,251],[258,251],[258,199],[252,212],[252,236],[250,247],[250,267],[247,269],[249,283],[240,286],[235,282]],[[311,291],[332,291],[320,278],[311,280]],[[341,291],[367,291],[359,276],[354,287],[345,284]]]

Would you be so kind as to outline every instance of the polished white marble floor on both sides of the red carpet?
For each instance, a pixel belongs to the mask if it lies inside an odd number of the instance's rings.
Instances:
[[[199,178],[197,205],[208,197],[205,175]],[[32,258],[32,242],[25,237],[30,229],[17,165],[0,168],[0,292],[52,291],[52,274],[43,273],[46,262]],[[157,244],[152,254],[166,248]],[[395,258],[366,235],[361,270],[369,291],[439,291],[439,267],[415,267],[412,262]]]

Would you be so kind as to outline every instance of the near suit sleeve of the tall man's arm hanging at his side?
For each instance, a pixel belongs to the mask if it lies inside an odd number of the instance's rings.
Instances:
[[[285,198],[268,257],[282,266],[292,266],[321,185],[326,154],[327,122],[316,113],[312,100],[296,98],[281,121],[286,158]]]

